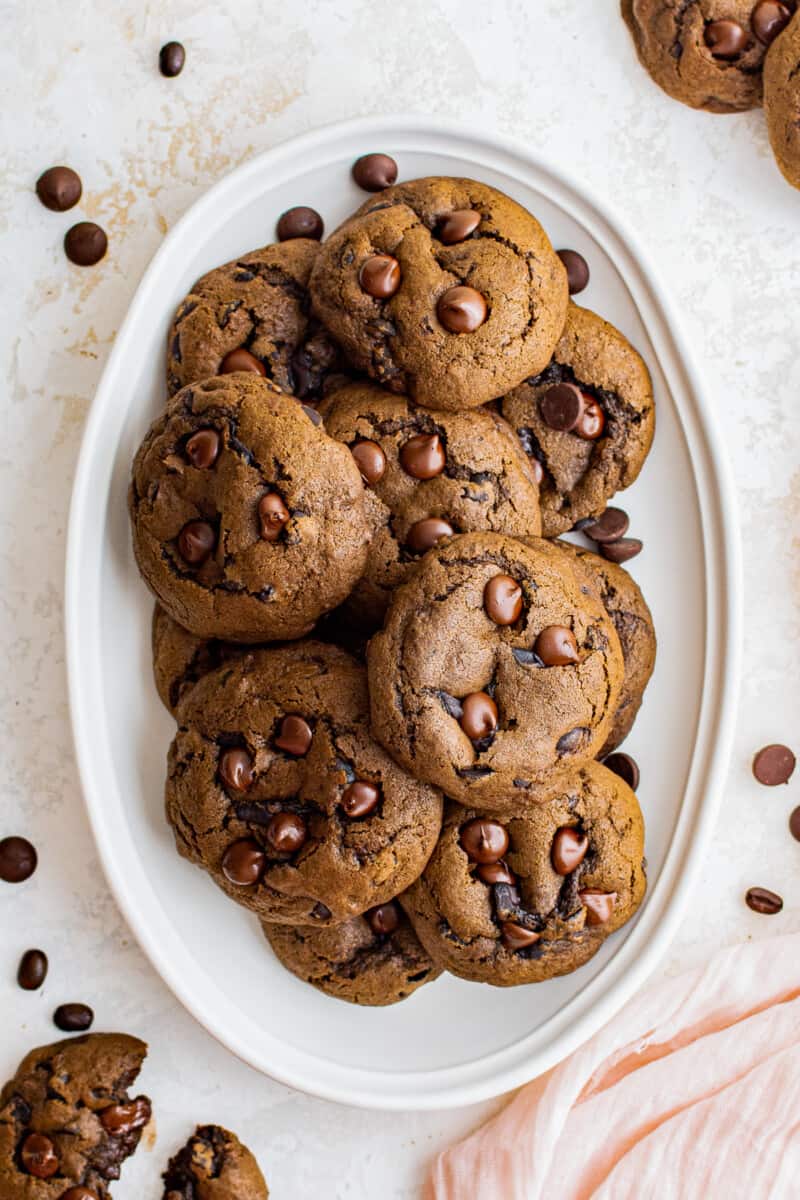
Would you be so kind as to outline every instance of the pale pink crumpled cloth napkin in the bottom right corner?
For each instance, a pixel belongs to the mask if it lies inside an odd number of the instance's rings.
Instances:
[[[800,934],[639,992],[440,1154],[426,1196],[800,1196]]]

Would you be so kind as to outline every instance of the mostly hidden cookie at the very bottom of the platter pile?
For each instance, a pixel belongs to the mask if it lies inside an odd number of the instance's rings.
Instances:
[[[263,929],[287,971],[353,1004],[396,1004],[441,974],[396,900],[330,929]]]

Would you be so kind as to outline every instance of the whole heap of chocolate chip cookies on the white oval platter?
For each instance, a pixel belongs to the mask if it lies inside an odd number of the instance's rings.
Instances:
[[[572,971],[643,898],[634,764],[599,758],[655,659],[607,508],[655,415],[530,212],[354,174],[326,241],[290,210],[181,302],[130,510],[179,852],[295,974],[386,1004]]]

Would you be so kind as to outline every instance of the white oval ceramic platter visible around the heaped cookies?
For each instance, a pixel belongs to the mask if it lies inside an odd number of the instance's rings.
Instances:
[[[451,974],[399,1004],[326,996],[284,971],[258,920],[175,853],[163,812],[174,722],[152,685],[152,601],[131,550],[131,461],[163,408],[173,314],[206,271],[263,246],[281,214],[311,205],[326,230],[363,202],[350,176],[381,150],[402,180],[495,187],[579,251],[579,302],[638,348],[657,432],[622,503],[644,552],[630,564],[660,654],[625,750],[639,763],[648,895],[584,966],[487,988]],[[680,918],[718,800],[732,733],[738,562],[726,467],[675,317],[631,236],[524,149],[413,120],[333,126],[276,148],[212,188],[166,238],[133,300],[98,392],[70,518],[67,653],[76,744],[109,883],[155,967],[233,1052],[308,1092],[373,1108],[434,1108],[498,1094],[559,1061],[638,986]]]

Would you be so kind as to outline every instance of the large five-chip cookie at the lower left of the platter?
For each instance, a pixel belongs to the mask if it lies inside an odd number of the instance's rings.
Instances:
[[[371,737],[366,671],[344,650],[255,650],[200,679],[178,721],[178,850],[261,920],[345,920],[425,866],[441,797]]]

